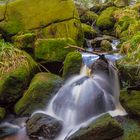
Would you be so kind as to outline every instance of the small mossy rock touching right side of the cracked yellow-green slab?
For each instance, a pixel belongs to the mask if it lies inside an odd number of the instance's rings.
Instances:
[[[90,25],[82,23],[82,29],[87,39],[93,39],[97,35],[97,31]]]

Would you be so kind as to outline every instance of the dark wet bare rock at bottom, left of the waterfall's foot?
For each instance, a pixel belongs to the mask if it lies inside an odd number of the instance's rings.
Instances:
[[[62,129],[62,122],[43,113],[34,114],[26,124],[30,138],[53,140]]]

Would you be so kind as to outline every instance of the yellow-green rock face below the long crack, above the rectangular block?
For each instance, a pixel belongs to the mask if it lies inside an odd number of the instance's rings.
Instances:
[[[83,45],[84,34],[77,19],[53,23],[42,29],[41,33],[45,38],[72,38],[79,46]]]

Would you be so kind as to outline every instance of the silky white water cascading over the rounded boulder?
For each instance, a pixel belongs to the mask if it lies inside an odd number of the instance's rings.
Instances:
[[[97,69],[93,67],[90,76],[85,65],[81,74],[69,79],[51,100],[45,113],[63,121],[63,130],[56,140],[67,139],[102,113],[125,114],[119,103],[117,70],[113,62],[101,62],[101,65],[104,63],[106,68],[101,66],[103,69],[95,64]]]

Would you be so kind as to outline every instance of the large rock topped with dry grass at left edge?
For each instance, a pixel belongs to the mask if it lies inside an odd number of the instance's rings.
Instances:
[[[38,66],[30,55],[3,41],[0,60],[0,104],[11,107],[22,96]]]

